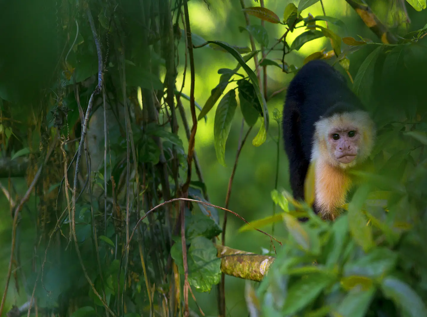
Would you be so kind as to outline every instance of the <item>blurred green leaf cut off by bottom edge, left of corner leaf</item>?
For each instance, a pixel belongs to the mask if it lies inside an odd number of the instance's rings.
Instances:
[[[339,303],[333,316],[364,317],[375,294],[375,288],[360,290],[353,288]]]

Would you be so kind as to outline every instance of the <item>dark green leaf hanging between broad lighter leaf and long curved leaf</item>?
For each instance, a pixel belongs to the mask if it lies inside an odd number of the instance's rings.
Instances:
[[[251,82],[241,79],[237,81],[239,87],[240,110],[246,123],[252,127],[262,115],[261,105],[256,98],[255,89]]]

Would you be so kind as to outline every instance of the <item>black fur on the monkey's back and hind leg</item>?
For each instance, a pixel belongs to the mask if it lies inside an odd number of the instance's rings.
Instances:
[[[321,116],[362,108],[342,74],[327,62],[313,60],[298,71],[287,89],[283,110],[283,137],[294,198],[304,199],[314,123]]]

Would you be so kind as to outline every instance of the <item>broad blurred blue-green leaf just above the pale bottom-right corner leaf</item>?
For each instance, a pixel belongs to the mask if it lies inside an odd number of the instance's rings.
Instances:
[[[397,263],[398,255],[390,249],[377,247],[361,258],[347,262],[343,276],[366,276],[381,278],[391,272]]]

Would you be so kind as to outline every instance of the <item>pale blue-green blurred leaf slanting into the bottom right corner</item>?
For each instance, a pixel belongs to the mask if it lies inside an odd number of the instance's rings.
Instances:
[[[382,281],[381,289],[385,296],[392,299],[393,302],[402,309],[404,316],[427,316],[427,309],[424,302],[405,282],[389,276]]]

